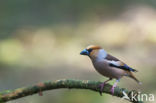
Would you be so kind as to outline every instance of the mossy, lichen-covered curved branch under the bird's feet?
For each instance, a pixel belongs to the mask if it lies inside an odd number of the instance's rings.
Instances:
[[[18,88],[15,90],[6,90],[0,92],[0,103],[4,103],[7,101],[11,101],[14,99],[22,98],[25,96],[33,95],[36,93],[41,93],[41,91],[59,89],[59,88],[68,88],[68,89],[89,89],[96,92],[99,92],[99,84],[102,82],[90,81],[90,80],[71,80],[71,79],[62,79],[56,81],[49,81],[44,83],[39,83],[34,86]],[[110,84],[106,84],[103,92],[110,94],[111,89]],[[116,87],[114,90],[114,96],[123,97],[123,91],[128,94],[129,98],[131,98],[131,93],[137,91],[128,91],[124,88]],[[98,95],[98,94],[97,94]],[[130,100],[129,100],[130,101]],[[142,101],[131,101],[133,103],[143,103]]]

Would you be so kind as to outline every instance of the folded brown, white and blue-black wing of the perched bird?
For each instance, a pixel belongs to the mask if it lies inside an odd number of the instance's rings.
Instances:
[[[136,72],[137,71],[137,70],[129,67],[127,64],[125,64],[124,62],[120,61],[119,59],[113,57],[110,54],[108,54],[105,59],[109,63],[109,65],[112,66],[112,67],[116,67],[116,68],[127,70],[127,71],[132,71],[132,72]]]

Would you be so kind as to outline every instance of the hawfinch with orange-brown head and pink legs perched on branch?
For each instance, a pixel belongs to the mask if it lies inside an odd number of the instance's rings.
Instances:
[[[108,81],[116,79],[110,90],[113,95],[114,88],[117,86],[120,79],[124,76],[132,78],[138,84],[142,84],[132,73],[137,72],[136,69],[133,69],[132,67],[125,64],[123,61],[107,53],[101,46],[89,45],[87,46],[87,48],[80,52],[80,55],[88,56],[91,59],[95,70],[101,75],[109,78],[99,85],[100,95],[102,95],[105,84]]]

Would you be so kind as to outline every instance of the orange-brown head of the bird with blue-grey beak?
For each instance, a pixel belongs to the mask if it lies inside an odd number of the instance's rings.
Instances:
[[[87,55],[89,57],[97,56],[100,49],[102,49],[100,46],[89,45],[86,49],[82,50],[80,54]]]

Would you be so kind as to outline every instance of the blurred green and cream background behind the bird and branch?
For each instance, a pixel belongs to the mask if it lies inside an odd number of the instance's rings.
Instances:
[[[156,94],[155,0],[1,0],[0,91],[62,78],[106,80],[79,55],[90,44],[139,71],[142,86],[123,78],[120,87]],[[128,102],[59,89],[8,103]]]

